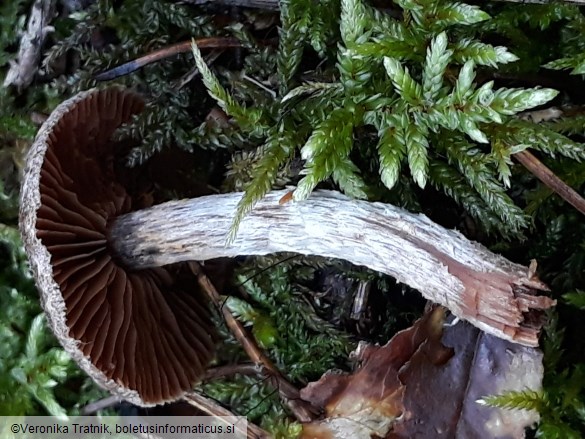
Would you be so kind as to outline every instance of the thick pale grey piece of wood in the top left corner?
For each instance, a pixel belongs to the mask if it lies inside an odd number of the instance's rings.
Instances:
[[[4,79],[4,87],[11,85],[22,90],[33,81],[41,60],[41,49],[45,38],[53,27],[49,22],[53,16],[54,0],[36,0],[31,8],[26,32],[20,39],[17,61],[10,62]]]

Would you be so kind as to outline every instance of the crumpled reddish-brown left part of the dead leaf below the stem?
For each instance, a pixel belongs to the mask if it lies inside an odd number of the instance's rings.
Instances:
[[[325,418],[305,424],[302,438],[384,437],[404,410],[399,370],[428,346],[450,355],[439,342],[444,313],[436,307],[385,346],[360,345],[356,356],[361,367],[356,372],[325,374],[303,389],[301,397],[323,407]]]

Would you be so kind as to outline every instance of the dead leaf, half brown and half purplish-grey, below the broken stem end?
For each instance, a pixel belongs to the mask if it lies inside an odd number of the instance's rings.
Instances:
[[[460,322],[443,331],[445,309],[433,308],[383,347],[360,345],[353,374],[325,374],[301,391],[323,419],[303,439],[516,439],[538,420],[477,400],[541,386],[542,353]]]

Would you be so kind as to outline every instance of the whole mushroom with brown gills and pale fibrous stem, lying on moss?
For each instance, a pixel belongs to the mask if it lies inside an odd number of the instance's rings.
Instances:
[[[201,297],[180,282],[180,263],[238,255],[345,259],[485,332],[538,345],[542,310],[555,302],[536,295],[547,288],[534,270],[424,215],[322,190],[281,204],[287,191],[273,191],[226,245],[241,193],[137,208],[116,179],[110,139],[142,106],[119,89],[64,102],[41,128],[23,181],[21,232],[49,323],[105,388],[140,405],[188,390],[213,336]]]

